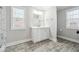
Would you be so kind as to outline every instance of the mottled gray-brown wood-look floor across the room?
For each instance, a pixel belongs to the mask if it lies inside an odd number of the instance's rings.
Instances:
[[[38,43],[25,42],[18,45],[7,47],[5,52],[78,52],[79,44],[64,39],[58,42],[44,40]]]

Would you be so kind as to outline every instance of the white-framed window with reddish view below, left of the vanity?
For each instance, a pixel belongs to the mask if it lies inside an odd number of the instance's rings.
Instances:
[[[11,29],[24,29],[24,9],[12,8]]]

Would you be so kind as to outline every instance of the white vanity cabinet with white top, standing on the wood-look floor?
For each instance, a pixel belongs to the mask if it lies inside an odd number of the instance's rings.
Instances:
[[[39,42],[49,38],[48,27],[32,27],[32,40],[33,42]]]

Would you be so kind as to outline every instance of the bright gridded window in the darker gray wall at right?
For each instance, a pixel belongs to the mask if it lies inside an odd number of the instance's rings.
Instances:
[[[66,12],[66,27],[69,29],[79,29],[79,8],[73,8]]]

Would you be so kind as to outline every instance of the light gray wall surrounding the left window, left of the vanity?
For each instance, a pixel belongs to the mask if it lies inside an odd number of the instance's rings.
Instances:
[[[29,34],[29,7],[19,7],[25,10],[25,24],[26,29],[24,30],[11,30],[11,7],[6,8],[6,19],[7,19],[7,43],[16,42],[23,39],[28,39]]]

